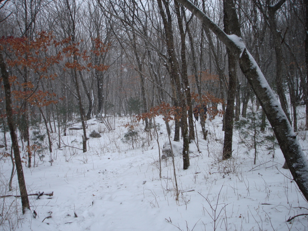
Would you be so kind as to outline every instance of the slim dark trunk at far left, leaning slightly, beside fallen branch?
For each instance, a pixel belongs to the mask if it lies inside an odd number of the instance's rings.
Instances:
[[[12,146],[13,146],[13,151],[14,151],[14,158],[15,158],[15,166],[16,166],[17,178],[18,178],[18,184],[19,184],[19,191],[20,191],[20,196],[21,196],[22,213],[24,214],[26,213],[27,210],[30,210],[30,203],[29,203],[28,193],[26,189],[25,177],[23,175],[23,170],[22,170],[22,162],[20,158],[18,140],[17,140],[17,136],[15,132],[15,123],[14,123],[14,118],[13,118],[9,73],[6,71],[6,64],[4,63],[4,59],[3,59],[1,52],[0,52],[0,69],[1,69],[1,76],[2,76],[2,81],[3,81],[4,91],[5,91],[7,123],[10,129],[10,135],[11,135]]]

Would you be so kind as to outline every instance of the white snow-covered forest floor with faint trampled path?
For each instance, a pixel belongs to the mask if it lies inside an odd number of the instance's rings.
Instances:
[[[29,214],[14,215],[20,209],[19,198],[1,198],[0,218],[6,213],[7,220],[0,230],[308,230],[307,216],[286,222],[289,217],[308,213],[308,205],[290,172],[281,168],[284,158],[279,149],[274,159],[273,152],[259,152],[254,165],[253,151],[247,155],[247,148],[238,144],[235,133],[233,158],[221,161],[221,118],[207,120],[207,141],[201,139],[197,123],[201,152],[197,152],[197,140],[190,144],[188,170],[182,169],[181,144],[173,142],[180,191],[176,201],[171,157],[162,161],[160,179],[154,132],[151,140],[140,123],[141,138],[132,149],[121,140],[127,123],[131,123],[129,118],[116,118],[115,130],[108,131],[99,120],[87,121],[87,133],[96,130],[102,137],[90,138],[86,153],[77,149],[82,148],[82,130],[68,130],[68,136],[61,137],[67,146],[62,144],[61,150],[56,149],[54,133],[52,166],[47,153],[45,161],[23,168],[29,193],[53,191],[54,195],[29,197],[36,219]],[[160,124],[162,148],[168,137],[162,118],[156,118],[156,123]],[[301,132],[299,138],[307,153],[306,132]],[[11,173],[10,158],[2,158],[0,163],[0,196],[18,195],[16,176],[15,191],[8,192],[4,186]],[[18,225],[14,225],[16,219]]]

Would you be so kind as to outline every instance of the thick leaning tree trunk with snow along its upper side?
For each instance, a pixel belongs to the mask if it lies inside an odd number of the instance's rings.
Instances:
[[[205,26],[209,27],[209,29],[212,30],[213,33],[216,34],[217,37],[231,50],[234,56],[239,59],[240,68],[257,95],[257,98],[273,127],[290,172],[297,183],[298,188],[302,191],[304,197],[308,201],[307,159],[286,114],[278,103],[273,90],[267,83],[256,61],[246,50],[245,44],[242,43],[241,38],[236,35],[225,34],[215,22],[213,22],[192,2],[188,0],[177,1],[199,18]]]

